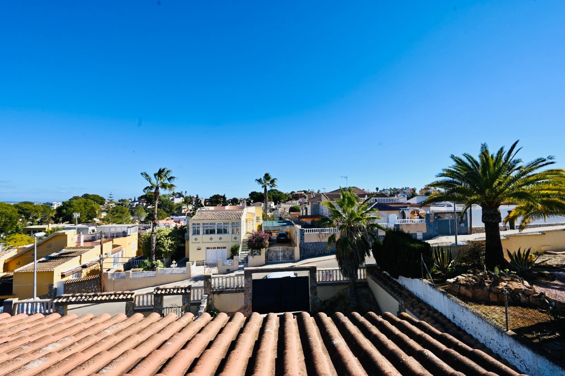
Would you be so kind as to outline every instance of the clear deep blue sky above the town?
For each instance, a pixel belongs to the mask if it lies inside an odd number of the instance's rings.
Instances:
[[[0,3],[0,201],[421,187],[521,139],[565,167],[565,2]]]

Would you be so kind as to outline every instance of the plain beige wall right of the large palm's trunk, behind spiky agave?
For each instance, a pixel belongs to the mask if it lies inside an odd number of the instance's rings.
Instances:
[[[502,239],[502,249],[504,255],[508,258],[506,250],[510,253],[521,250],[527,250],[532,247],[532,253],[544,251],[565,251],[565,231],[543,231],[542,233],[522,233],[509,235]]]

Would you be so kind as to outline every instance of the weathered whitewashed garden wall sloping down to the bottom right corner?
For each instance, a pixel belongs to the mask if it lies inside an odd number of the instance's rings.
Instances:
[[[401,276],[398,278],[398,283],[529,375],[563,374],[563,369],[558,365],[512,338],[514,332],[505,332],[496,328],[471,311],[463,302],[436,289],[428,281]]]

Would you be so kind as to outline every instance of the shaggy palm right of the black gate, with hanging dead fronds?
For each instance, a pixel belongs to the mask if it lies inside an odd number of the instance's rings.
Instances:
[[[327,218],[320,219],[322,227],[337,228],[338,232],[328,238],[328,248],[336,247],[337,264],[341,273],[349,279],[349,300],[351,307],[357,307],[357,271],[365,264],[366,256],[371,254],[371,248],[377,237],[375,232],[383,229],[377,224],[380,219],[373,215],[377,209],[372,209],[369,198],[360,202],[353,188],[341,188],[341,196],[335,202],[323,202],[329,209]]]

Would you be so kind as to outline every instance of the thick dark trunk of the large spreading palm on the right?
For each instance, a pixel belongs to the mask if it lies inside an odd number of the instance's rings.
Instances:
[[[485,224],[485,266],[493,270],[494,267],[506,266],[506,259],[502,250],[500,227],[502,216],[498,207],[483,207],[483,223]]]

